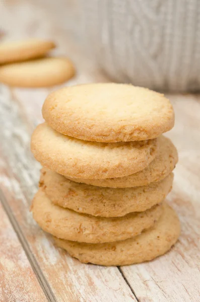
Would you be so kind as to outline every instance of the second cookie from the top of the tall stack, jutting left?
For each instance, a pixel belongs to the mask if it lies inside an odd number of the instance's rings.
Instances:
[[[63,135],[46,123],[37,126],[31,149],[43,167],[77,178],[122,177],[145,169],[155,158],[157,139],[102,143]]]

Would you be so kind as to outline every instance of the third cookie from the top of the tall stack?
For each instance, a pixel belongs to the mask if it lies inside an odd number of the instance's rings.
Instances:
[[[161,181],[175,168],[178,162],[178,154],[171,140],[163,135],[158,137],[158,146],[155,159],[147,168],[137,173],[118,178],[79,179],[68,177],[68,179],[78,183],[110,188],[147,186],[153,182]]]

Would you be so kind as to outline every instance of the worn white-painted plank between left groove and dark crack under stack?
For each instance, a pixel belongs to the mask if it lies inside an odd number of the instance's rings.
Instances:
[[[29,123],[23,106],[19,107],[20,103],[15,102],[12,95],[8,88],[0,86],[4,125],[0,132],[0,181],[24,240],[28,241],[29,249],[44,274],[44,286],[52,291],[52,300],[136,301],[117,268],[81,264],[54,247],[50,237],[34,222],[29,207],[37,190],[40,165],[29,149],[33,125]]]

